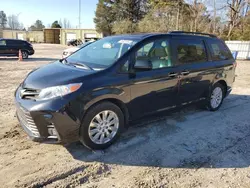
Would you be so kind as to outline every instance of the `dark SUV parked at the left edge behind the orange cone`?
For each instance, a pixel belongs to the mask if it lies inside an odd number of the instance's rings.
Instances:
[[[18,57],[19,50],[23,59],[35,53],[32,44],[25,40],[0,38],[0,56]]]

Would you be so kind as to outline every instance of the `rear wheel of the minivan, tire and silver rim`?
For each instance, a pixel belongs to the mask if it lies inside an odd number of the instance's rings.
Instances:
[[[211,92],[207,99],[206,107],[210,111],[217,111],[225,98],[225,87],[220,83],[213,85]]]

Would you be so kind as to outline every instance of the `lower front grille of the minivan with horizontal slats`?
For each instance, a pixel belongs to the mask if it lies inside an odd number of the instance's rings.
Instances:
[[[17,116],[22,126],[25,126],[32,133],[32,136],[40,137],[40,133],[37,129],[37,126],[35,125],[34,120],[30,116],[30,113],[21,106],[19,106],[18,104],[16,106],[17,106]]]

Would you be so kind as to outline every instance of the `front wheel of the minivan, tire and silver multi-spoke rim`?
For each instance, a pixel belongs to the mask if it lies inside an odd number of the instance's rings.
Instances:
[[[80,127],[80,141],[90,149],[105,149],[119,137],[123,127],[121,109],[111,102],[102,102],[86,112]]]

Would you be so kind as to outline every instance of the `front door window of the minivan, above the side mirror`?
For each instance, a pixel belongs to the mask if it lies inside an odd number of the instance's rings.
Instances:
[[[136,60],[151,61],[153,69],[171,67],[168,40],[155,40],[143,45],[136,52]]]

